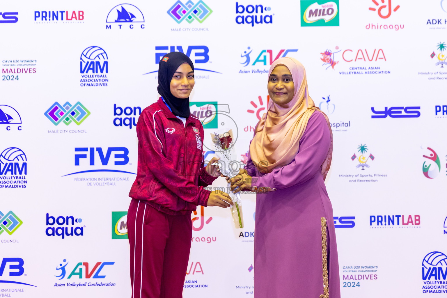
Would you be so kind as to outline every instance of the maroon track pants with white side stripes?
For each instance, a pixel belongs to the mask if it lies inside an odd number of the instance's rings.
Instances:
[[[181,298],[191,248],[191,215],[168,215],[132,199],[127,233],[132,298]]]

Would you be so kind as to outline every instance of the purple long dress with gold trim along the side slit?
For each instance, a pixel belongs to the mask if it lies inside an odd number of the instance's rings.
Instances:
[[[328,124],[314,112],[290,164],[264,175],[249,156],[252,185],[276,191],[256,196],[254,298],[319,298],[323,294],[321,217],[327,220],[329,298],[340,298],[332,204],[321,174],[330,146]]]

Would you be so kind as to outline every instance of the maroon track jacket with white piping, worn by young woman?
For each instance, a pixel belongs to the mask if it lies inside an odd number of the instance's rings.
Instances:
[[[211,192],[203,187],[216,177],[203,167],[200,120],[190,114],[184,126],[160,97],[143,110],[136,130],[138,173],[129,197],[171,215],[207,206]]]

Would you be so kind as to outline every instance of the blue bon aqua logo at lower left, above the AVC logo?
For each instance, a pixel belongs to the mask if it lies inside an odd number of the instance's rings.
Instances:
[[[60,236],[62,239],[64,239],[65,236],[84,236],[85,226],[74,227],[75,223],[77,225],[80,222],[82,222],[81,218],[74,218],[73,216],[58,216],[55,218],[47,213],[46,225],[51,227],[46,228],[45,234],[47,236]],[[52,227],[54,225],[58,225],[59,227]]]

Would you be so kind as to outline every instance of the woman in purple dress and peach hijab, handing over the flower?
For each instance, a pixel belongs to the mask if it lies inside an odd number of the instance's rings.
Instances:
[[[232,190],[257,191],[254,298],[340,298],[332,204],[325,187],[332,158],[327,116],[308,94],[299,61],[277,59],[270,103]]]

